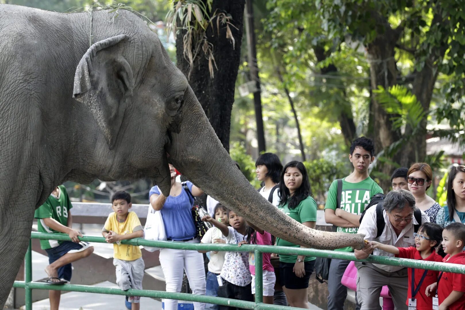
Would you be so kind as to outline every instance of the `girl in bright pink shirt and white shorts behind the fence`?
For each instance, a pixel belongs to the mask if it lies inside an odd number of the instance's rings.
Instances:
[[[272,235],[256,227],[255,225],[247,222],[249,225],[249,231],[247,234],[247,241],[242,241],[242,244],[262,244],[262,245],[273,245]],[[270,253],[263,253],[263,303],[273,304],[274,296],[274,284],[276,282],[276,276],[274,274],[274,268],[270,262]],[[249,253],[249,270],[252,275],[252,294],[255,297],[255,252]]]

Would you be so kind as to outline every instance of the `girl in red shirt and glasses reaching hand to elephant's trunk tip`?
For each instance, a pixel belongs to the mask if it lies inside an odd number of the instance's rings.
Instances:
[[[442,227],[436,223],[424,223],[418,233],[414,233],[415,246],[408,248],[397,248],[372,241],[373,248],[395,254],[396,257],[419,259],[432,262],[442,262],[444,251],[439,245],[442,241]],[[438,249],[438,250],[436,250]],[[436,251],[438,251],[439,255]],[[413,272],[412,272],[413,271]],[[415,306],[417,310],[431,310],[432,297],[425,294],[426,287],[436,283],[439,271],[408,269],[408,299],[406,304]]]

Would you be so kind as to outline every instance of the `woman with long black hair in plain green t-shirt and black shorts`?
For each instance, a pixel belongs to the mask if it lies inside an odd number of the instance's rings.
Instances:
[[[281,201],[279,209],[307,227],[315,228],[317,204],[312,198],[307,170],[299,161],[284,166],[279,182]],[[276,245],[299,247],[297,244],[277,238]],[[307,288],[315,267],[315,257],[279,255],[281,285],[292,307],[308,309]]]

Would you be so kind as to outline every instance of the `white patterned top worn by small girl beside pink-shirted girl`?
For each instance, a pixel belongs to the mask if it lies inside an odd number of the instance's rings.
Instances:
[[[227,244],[238,244],[246,239],[233,227],[228,227],[229,235],[225,237]],[[229,283],[246,286],[252,282],[249,270],[249,252],[226,252],[225,264],[221,270],[221,277]]]

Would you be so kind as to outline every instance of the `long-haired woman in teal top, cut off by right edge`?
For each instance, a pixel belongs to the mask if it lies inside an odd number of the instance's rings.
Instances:
[[[452,167],[447,180],[447,205],[439,210],[436,223],[445,227],[452,222],[465,223],[465,166]]]

